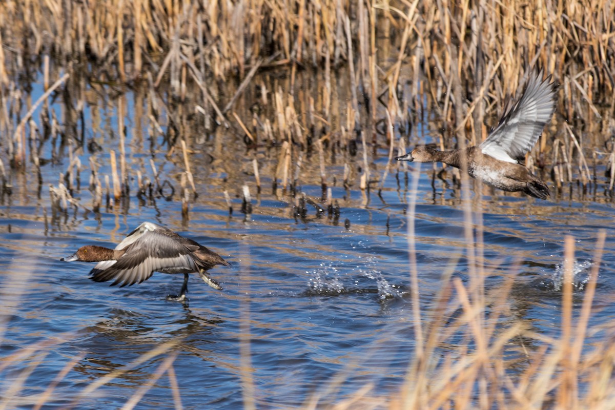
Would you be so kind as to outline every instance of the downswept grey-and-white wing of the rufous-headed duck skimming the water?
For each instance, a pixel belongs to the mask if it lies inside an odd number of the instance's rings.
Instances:
[[[111,286],[121,283],[123,287],[141,283],[154,272],[199,272],[191,251],[177,240],[183,239],[180,235],[155,224],[146,224],[151,223],[141,224],[117,245],[116,249],[125,251],[117,261],[100,262],[92,269],[90,275],[95,282],[113,279]]]

